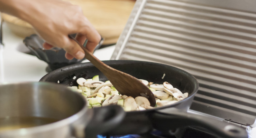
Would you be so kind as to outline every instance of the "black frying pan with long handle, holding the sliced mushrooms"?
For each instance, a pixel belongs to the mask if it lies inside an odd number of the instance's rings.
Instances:
[[[168,131],[184,126],[199,126],[207,128],[215,135],[223,138],[248,137],[246,130],[242,128],[209,117],[187,113],[199,87],[198,82],[190,73],[172,66],[153,62],[130,60],[103,62],[115,69],[135,76],[138,79],[144,79],[154,83],[163,83],[164,81],[167,81],[183,93],[189,93],[188,98],[176,102],[173,105],[144,111],[127,112],[126,117],[122,120],[121,124],[106,134],[144,134],[152,129]],[[165,77],[162,79],[164,73]],[[101,81],[107,80],[107,78],[91,63],[79,63],[54,70],[45,75],[40,81],[55,83],[59,81],[66,86],[78,86],[76,80],[73,79],[74,76],[76,76],[76,79],[80,77],[89,79],[95,75],[99,75]],[[88,128],[90,128],[90,126],[88,126]]]

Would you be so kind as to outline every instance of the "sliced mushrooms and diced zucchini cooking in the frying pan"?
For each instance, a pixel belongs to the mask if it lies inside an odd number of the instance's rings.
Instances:
[[[155,84],[147,80],[139,79],[144,83],[154,94],[156,98],[156,106],[162,107],[171,105],[177,101],[188,97],[188,92],[182,93],[179,89],[174,88],[170,83]],[[78,78],[78,86],[69,87],[70,89],[80,92],[89,102],[89,108],[119,105],[125,111],[146,110],[154,107],[150,106],[147,98],[138,96],[136,98],[120,95],[110,81],[99,81],[99,76],[96,75],[92,79]]]

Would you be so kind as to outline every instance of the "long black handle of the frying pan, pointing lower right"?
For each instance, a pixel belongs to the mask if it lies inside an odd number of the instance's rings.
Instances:
[[[221,138],[248,138],[245,129],[206,116],[174,110],[169,114],[155,112],[151,116],[155,129],[168,131],[184,126],[198,126],[208,129]]]

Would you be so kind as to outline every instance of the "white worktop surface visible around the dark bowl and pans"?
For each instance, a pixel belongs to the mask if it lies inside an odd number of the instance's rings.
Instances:
[[[20,48],[23,39],[13,34],[10,29],[3,23],[3,68],[4,83],[16,83],[25,81],[39,81],[47,74],[45,68],[47,63],[39,60],[37,57],[22,53],[17,50]],[[96,50],[94,56],[100,60],[110,60],[115,46],[110,46]],[[84,60],[83,62],[88,62]],[[1,73],[0,73],[1,75]],[[1,77],[1,76],[0,76]],[[0,82],[1,84],[2,82]],[[256,138],[256,128],[250,133],[251,138]]]

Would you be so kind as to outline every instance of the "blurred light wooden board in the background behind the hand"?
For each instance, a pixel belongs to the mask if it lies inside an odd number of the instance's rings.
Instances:
[[[79,5],[83,13],[105,39],[103,45],[117,42],[130,16],[135,0],[65,0]],[[16,17],[2,14],[8,27],[18,36],[35,33],[33,27]]]

